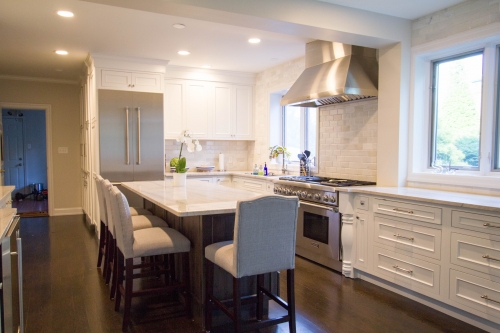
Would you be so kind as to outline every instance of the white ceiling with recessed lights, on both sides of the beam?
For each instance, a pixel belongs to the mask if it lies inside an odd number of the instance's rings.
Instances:
[[[320,0],[406,17],[459,0]],[[437,5],[438,3],[439,5]],[[376,4],[376,6],[375,6]],[[373,7],[373,8],[372,8]],[[56,15],[74,12],[73,18]],[[423,15],[423,14],[422,14]],[[186,25],[178,30],[174,23]],[[260,44],[247,40],[258,37]],[[0,75],[75,81],[90,54],[257,73],[304,55],[312,39],[78,0],[1,0]],[[57,49],[67,56],[54,54]],[[180,56],[188,50],[189,56]]]

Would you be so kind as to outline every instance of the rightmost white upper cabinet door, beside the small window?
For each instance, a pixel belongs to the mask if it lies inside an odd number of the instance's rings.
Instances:
[[[234,135],[238,139],[253,137],[253,92],[252,87],[235,86]]]

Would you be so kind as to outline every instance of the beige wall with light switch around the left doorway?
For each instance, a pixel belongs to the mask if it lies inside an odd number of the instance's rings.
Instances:
[[[0,102],[51,106],[54,188],[49,191],[56,211],[82,206],[79,95],[77,84],[0,79]],[[57,147],[68,147],[68,154],[58,154]]]

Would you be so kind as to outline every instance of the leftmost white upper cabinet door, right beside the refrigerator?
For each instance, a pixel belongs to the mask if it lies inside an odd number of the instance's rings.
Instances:
[[[165,81],[165,139],[177,138],[184,129],[182,115],[185,85],[181,80]]]

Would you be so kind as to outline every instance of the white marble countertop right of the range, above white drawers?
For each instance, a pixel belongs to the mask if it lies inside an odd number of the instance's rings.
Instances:
[[[488,195],[426,190],[414,187],[353,186],[337,187],[335,189],[339,192],[366,193],[385,197],[418,200],[435,204],[500,212],[500,197]]]

